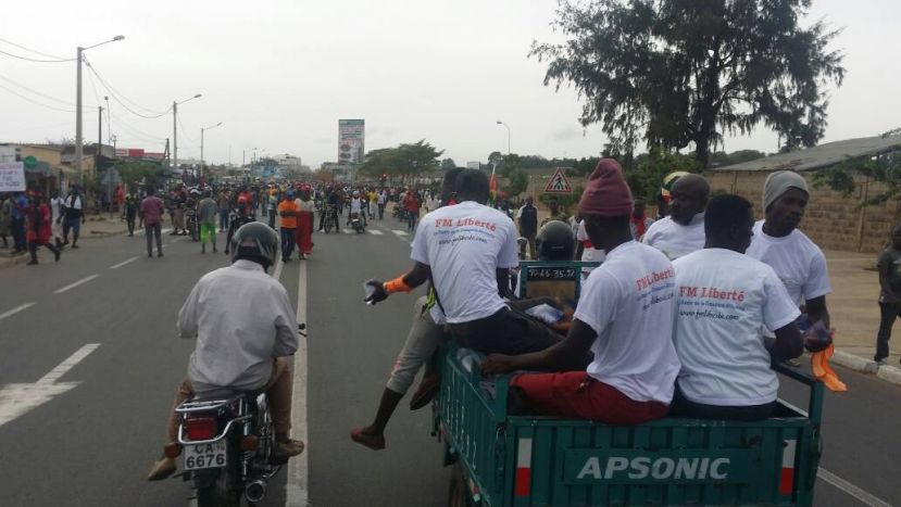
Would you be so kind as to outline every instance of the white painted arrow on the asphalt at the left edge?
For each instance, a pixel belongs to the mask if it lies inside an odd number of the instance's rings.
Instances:
[[[54,396],[63,394],[78,385],[80,382],[57,383],[57,380],[80,363],[98,346],[100,346],[99,343],[88,343],[35,383],[3,385],[0,389],[0,426],[23,416],[33,408],[37,408],[53,400]]]

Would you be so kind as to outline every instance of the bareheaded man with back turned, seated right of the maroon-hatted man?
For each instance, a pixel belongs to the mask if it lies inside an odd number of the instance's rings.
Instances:
[[[772,267],[744,255],[753,226],[750,202],[717,195],[706,208],[704,249],[673,262],[681,370],[671,415],[765,419],[779,389],[771,362],[803,352],[798,306]],[[765,340],[764,328],[776,339]]]

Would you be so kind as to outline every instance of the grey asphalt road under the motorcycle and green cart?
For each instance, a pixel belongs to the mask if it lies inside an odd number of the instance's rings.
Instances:
[[[309,326],[308,417],[300,423],[309,433],[310,505],[445,504],[449,471],[429,435],[427,409],[411,413],[404,401],[386,451],[348,438],[352,426],[373,417],[411,318],[412,295],[375,307],[361,302],[365,279],[409,265],[410,237],[393,229],[404,227],[387,218],[366,235],[316,235],[315,255],[305,263],[299,295]],[[39,266],[0,270],[0,505],[189,503],[187,483],[143,478],[193,347],[175,337],[175,316],[197,279],[226,258],[200,255],[180,237],[165,240],[163,258],[145,256],[142,237],[120,236],[84,241],[55,265],[41,253]],[[280,274],[295,304],[300,269],[295,261]],[[901,391],[839,372],[851,391],[826,400],[822,468],[830,473],[821,474],[829,482],[818,481],[815,505],[901,505]],[[803,390],[783,384],[784,396],[803,406]],[[28,404],[36,406],[22,408]],[[265,505],[284,505],[286,476]]]

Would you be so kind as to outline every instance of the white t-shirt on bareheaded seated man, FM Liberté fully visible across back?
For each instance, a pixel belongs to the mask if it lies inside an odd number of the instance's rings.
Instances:
[[[678,294],[674,341],[685,397],[719,406],[776,400],[779,381],[769,368],[764,329],[787,326],[800,312],[773,268],[725,249],[699,250],[673,266]]]

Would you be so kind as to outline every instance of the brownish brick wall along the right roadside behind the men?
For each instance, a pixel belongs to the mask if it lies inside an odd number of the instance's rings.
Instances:
[[[712,191],[737,193],[751,201],[754,214],[763,218],[763,183],[768,172],[710,172],[704,175]],[[885,187],[859,178],[854,192],[844,197],[813,185],[813,175],[802,174],[811,188],[801,230],[816,244],[826,250],[850,252],[880,252],[888,241],[896,216],[897,201],[859,207],[867,195],[878,194]]]

